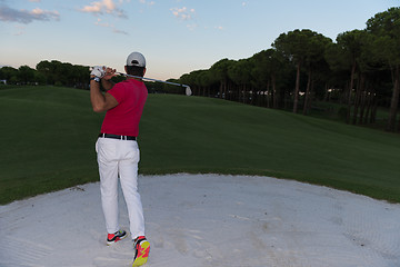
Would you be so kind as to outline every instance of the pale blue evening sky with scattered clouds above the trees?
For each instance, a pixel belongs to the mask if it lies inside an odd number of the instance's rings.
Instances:
[[[281,33],[336,40],[364,29],[399,0],[0,0],[0,66],[42,60],[123,71],[130,52],[147,77],[179,78],[228,58],[250,58]]]

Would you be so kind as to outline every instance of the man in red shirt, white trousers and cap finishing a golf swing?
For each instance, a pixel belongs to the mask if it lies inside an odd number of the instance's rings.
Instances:
[[[128,75],[143,77],[146,59],[139,52],[127,58]],[[139,121],[148,90],[141,79],[128,78],[114,83],[116,70],[94,67],[90,73],[90,100],[96,112],[106,112],[99,138],[98,155],[101,204],[108,231],[107,244],[112,245],[127,237],[119,228],[118,178],[128,207],[130,233],[134,243],[133,266],[146,264],[150,244],[144,237],[143,208],[138,192]],[[106,93],[100,91],[103,87]]]

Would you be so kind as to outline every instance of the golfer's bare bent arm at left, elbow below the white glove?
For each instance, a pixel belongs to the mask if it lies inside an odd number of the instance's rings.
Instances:
[[[94,80],[90,80],[90,101],[94,112],[107,111],[118,105],[118,101],[110,93],[101,93],[100,82]]]

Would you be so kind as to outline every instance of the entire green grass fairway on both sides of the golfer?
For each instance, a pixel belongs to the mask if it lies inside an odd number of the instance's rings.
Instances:
[[[0,91],[0,204],[98,180],[89,92]],[[219,99],[150,95],[139,172],[266,175],[400,202],[400,137]]]

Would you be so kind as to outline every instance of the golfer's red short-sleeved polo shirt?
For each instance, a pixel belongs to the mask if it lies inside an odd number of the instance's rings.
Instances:
[[[101,132],[137,137],[139,135],[139,121],[148,97],[144,82],[128,79],[114,85],[108,93],[116,98],[118,105],[107,111]]]

